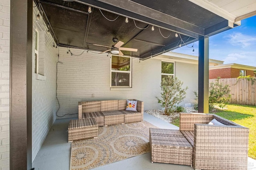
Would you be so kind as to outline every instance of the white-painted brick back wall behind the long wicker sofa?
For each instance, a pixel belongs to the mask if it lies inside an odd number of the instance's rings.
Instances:
[[[156,96],[160,96],[161,60],[152,58],[139,63],[138,59],[132,59],[132,88],[110,89],[110,56],[92,52],[71,56],[67,51],[67,48],[60,48],[59,60],[63,64],[58,64],[57,96],[60,102],[58,115],[78,113],[78,102],[89,100],[135,98],[144,101],[144,110],[160,109]],[[83,52],[80,49],[70,49],[70,51],[75,55]],[[178,62],[176,65],[177,77],[186,81],[184,86],[188,86],[190,90],[184,102],[192,103],[193,90],[197,90],[198,66]]]

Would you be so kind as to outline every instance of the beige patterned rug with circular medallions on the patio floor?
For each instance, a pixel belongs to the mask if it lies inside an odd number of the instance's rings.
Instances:
[[[98,138],[72,142],[70,170],[88,170],[150,152],[146,122],[99,127]]]

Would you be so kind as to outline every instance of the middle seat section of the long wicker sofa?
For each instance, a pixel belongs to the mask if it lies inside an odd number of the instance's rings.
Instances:
[[[105,116],[104,126],[124,124],[124,113],[121,111],[102,111]]]

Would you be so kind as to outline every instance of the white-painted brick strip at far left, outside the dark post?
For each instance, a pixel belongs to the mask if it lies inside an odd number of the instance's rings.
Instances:
[[[0,169],[9,169],[10,0],[0,1]]]

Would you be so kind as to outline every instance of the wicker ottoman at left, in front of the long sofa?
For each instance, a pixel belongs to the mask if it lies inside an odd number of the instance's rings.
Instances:
[[[68,142],[98,137],[98,124],[94,118],[70,120]]]

